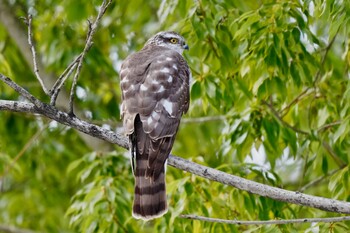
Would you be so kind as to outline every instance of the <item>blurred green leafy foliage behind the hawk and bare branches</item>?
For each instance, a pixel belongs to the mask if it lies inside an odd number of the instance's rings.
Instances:
[[[20,17],[33,15],[41,72],[57,78],[82,51],[87,20],[100,4],[5,0],[0,6],[16,19],[24,39]],[[176,30],[190,45],[185,57],[193,82],[174,154],[272,186],[350,201],[349,19],[350,2],[344,0],[113,1],[84,60],[78,115],[120,130],[122,60],[154,33]],[[0,72],[48,101],[33,75],[29,48],[21,49],[23,38],[10,31],[1,21]],[[5,84],[0,98],[22,99]],[[181,219],[180,214],[240,220],[339,215],[172,167],[169,213],[151,222],[134,220],[127,156],[48,119],[0,112],[0,222],[39,232],[350,231],[349,222],[235,226]]]

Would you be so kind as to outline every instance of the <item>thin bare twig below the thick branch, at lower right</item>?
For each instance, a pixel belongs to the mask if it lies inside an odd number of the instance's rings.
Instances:
[[[205,222],[216,222],[235,225],[281,225],[291,223],[310,223],[310,222],[343,222],[350,221],[350,216],[332,217],[332,218],[301,218],[301,219],[280,219],[280,220],[265,220],[265,221],[241,221],[241,220],[226,220],[220,218],[208,218],[196,215],[180,215],[180,218],[200,220]]]

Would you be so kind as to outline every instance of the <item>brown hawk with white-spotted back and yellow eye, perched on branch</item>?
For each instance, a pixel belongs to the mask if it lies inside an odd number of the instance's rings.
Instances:
[[[159,32],[128,56],[120,70],[121,117],[135,177],[132,215],[150,220],[167,212],[165,162],[189,107],[189,47],[173,31]]]

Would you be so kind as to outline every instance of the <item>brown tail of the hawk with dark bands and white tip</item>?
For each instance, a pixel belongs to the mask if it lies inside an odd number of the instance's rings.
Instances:
[[[136,160],[135,175],[135,197],[132,215],[134,218],[151,220],[162,216],[168,211],[165,171],[161,171],[156,178],[146,176],[147,156],[140,156]]]

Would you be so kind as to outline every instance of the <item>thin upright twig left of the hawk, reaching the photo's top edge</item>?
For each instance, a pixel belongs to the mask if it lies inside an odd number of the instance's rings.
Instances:
[[[72,83],[72,87],[71,87],[71,91],[70,91],[70,98],[69,98],[69,114],[70,115],[74,115],[74,110],[73,110],[74,93],[75,93],[76,85],[78,83],[78,78],[79,78],[79,75],[81,72],[84,57],[93,44],[93,42],[92,42],[93,35],[95,34],[97,26],[100,23],[103,14],[106,12],[107,7],[109,6],[109,4],[111,4],[111,2],[112,2],[111,0],[109,0],[109,1],[104,0],[101,7],[100,7],[100,10],[98,12],[98,15],[97,15],[95,21],[92,24],[90,21],[88,21],[89,30],[88,30],[88,34],[87,34],[87,38],[86,38],[85,47],[84,47],[84,50],[81,53],[81,57],[78,61],[78,66],[77,66],[76,72],[74,74],[73,83]]]

